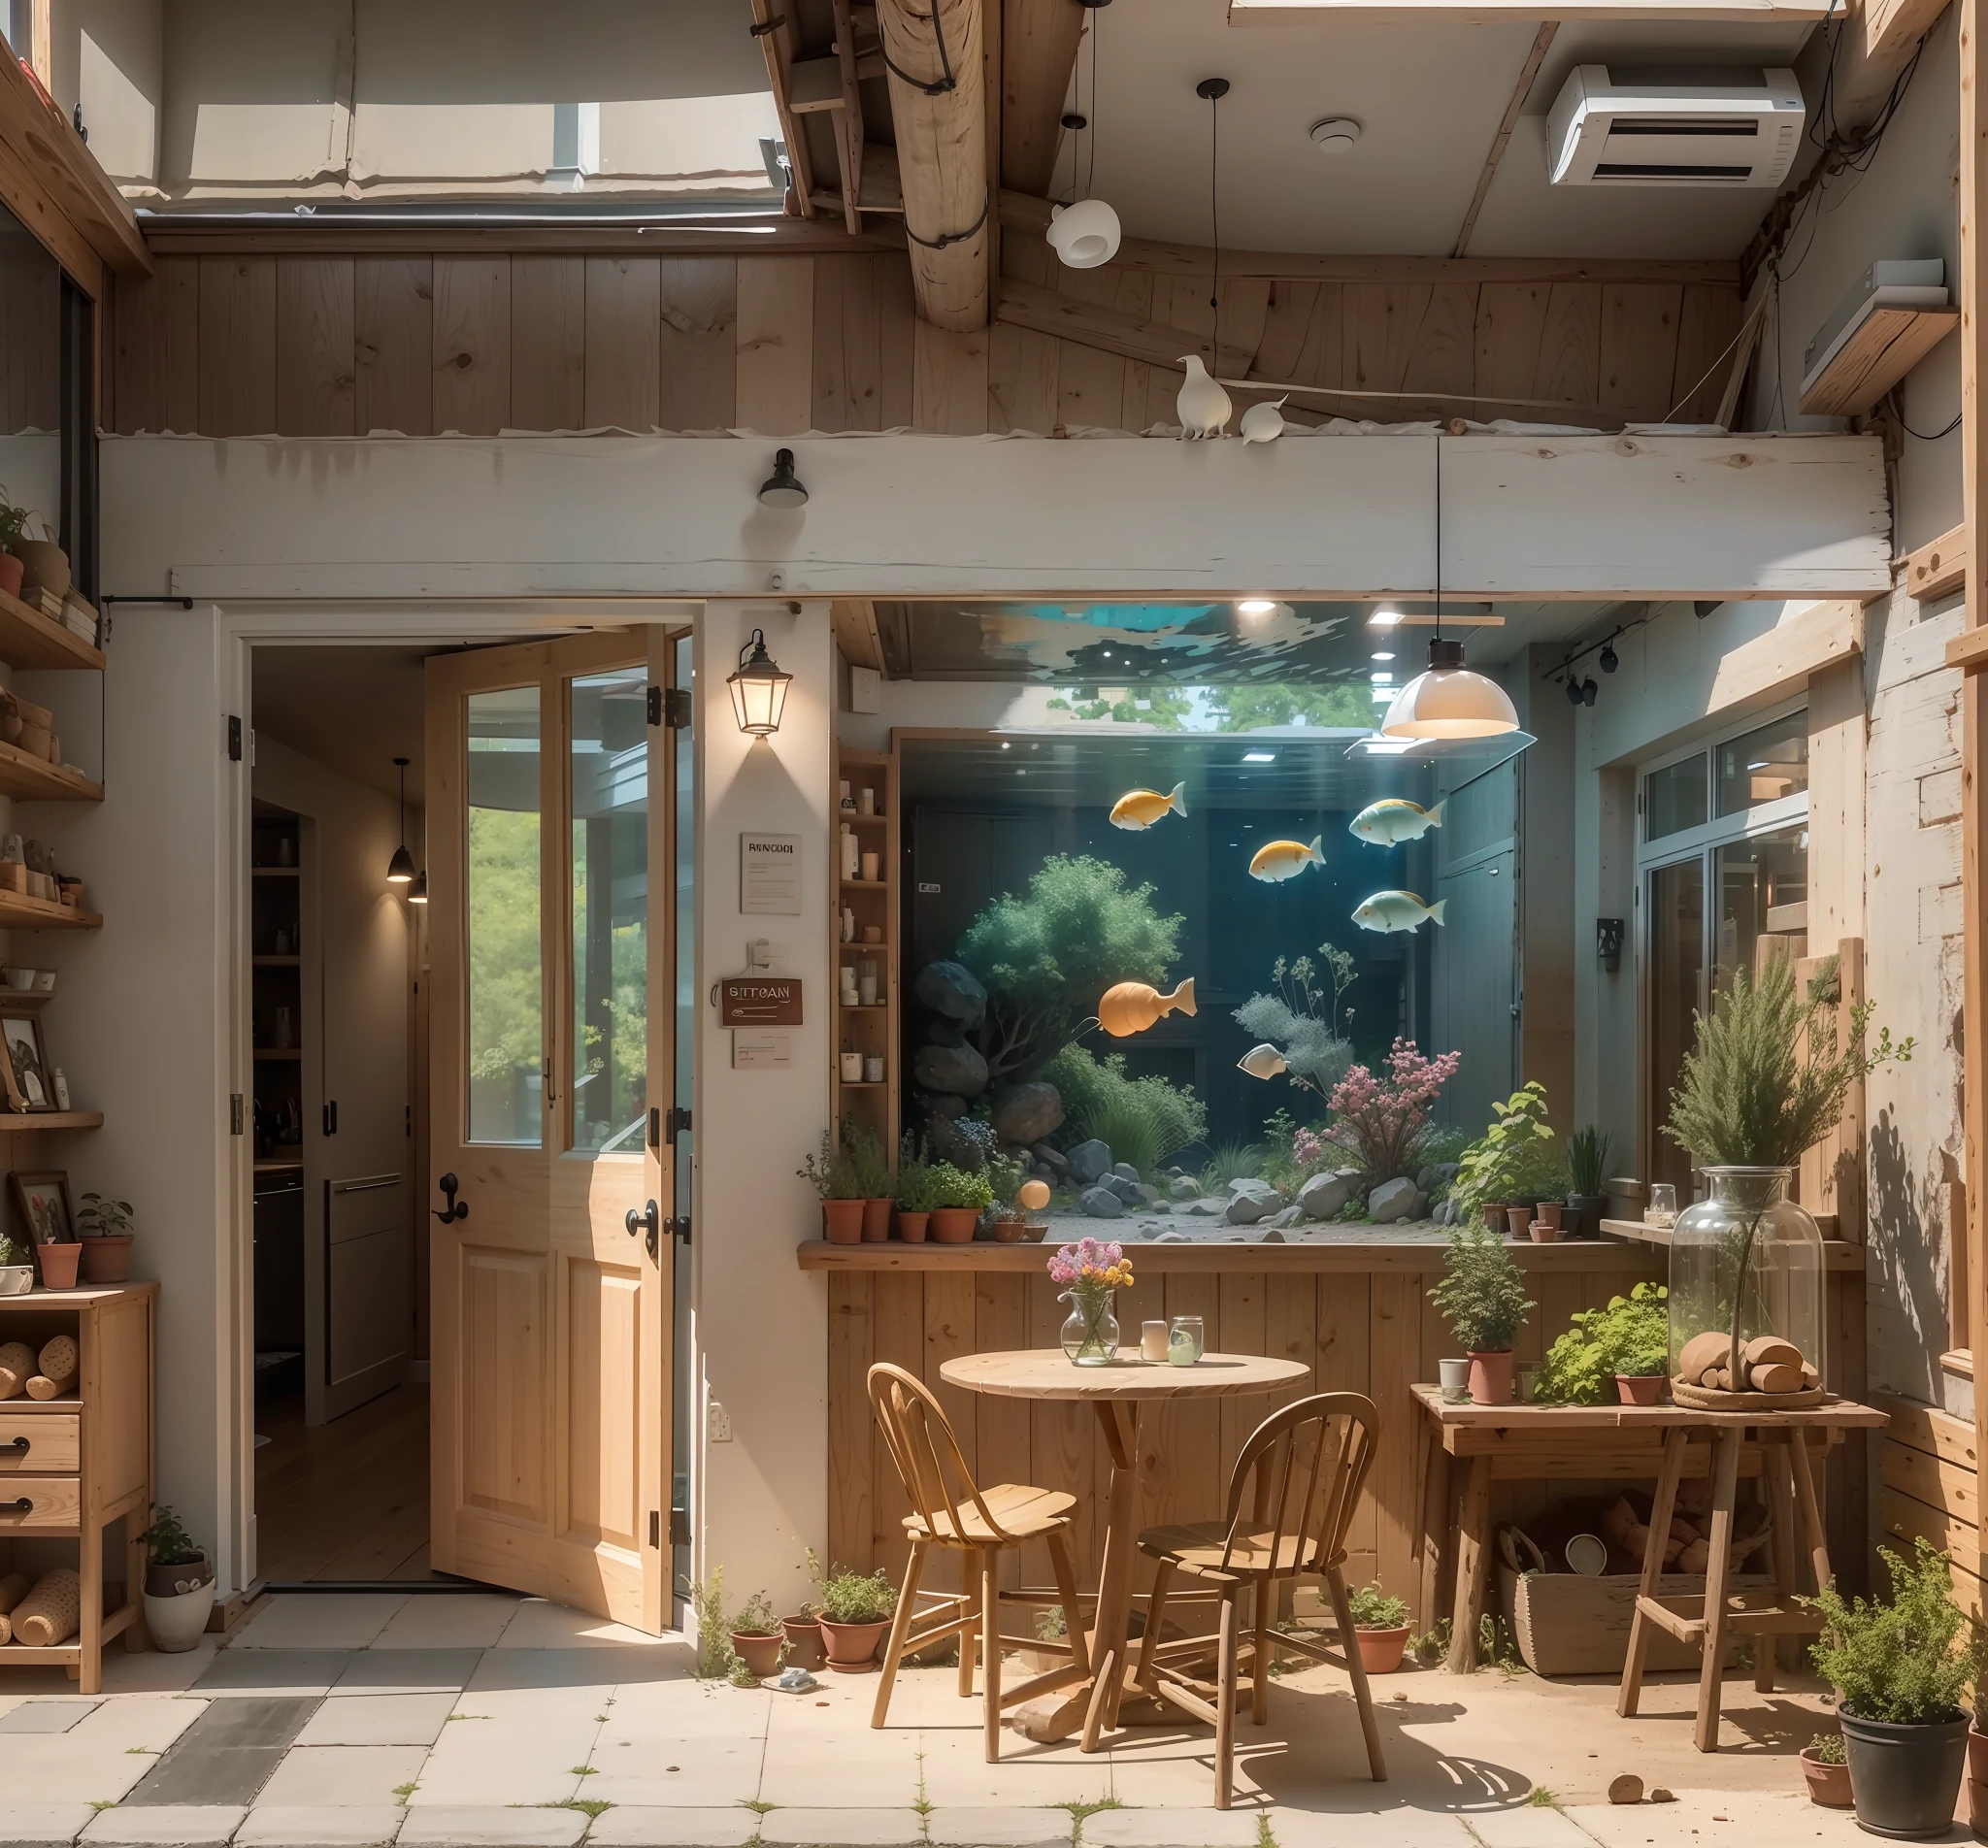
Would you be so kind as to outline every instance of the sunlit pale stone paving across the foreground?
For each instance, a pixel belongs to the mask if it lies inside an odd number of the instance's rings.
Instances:
[[[1690,1747],[1694,1689],[1646,1715],[1602,1683],[1402,1673],[1376,1683],[1390,1778],[1366,1774],[1344,1677],[1280,1679],[1241,1727],[1244,1794],[1213,1808],[1205,1727],[1111,1751],[1004,1735],[952,1669],[805,1695],[706,1685],[682,1637],[509,1596],[282,1596],[225,1649],[105,1657],[105,1695],[62,1669],[0,1675],[0,1848],[1813,1848],[1795,1751],[1825,1703],[1728,1681],[1728,1749]],[[1614,1808],[1622,1771],[1676,1792]],[[1952,1840],[1964,1840],[1956,1828]]]

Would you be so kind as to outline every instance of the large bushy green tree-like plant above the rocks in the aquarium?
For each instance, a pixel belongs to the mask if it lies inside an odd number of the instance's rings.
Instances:
[[[1004,892],[960,938],[958,960],[988,992],[972,1031],[992,1081],[1036,1077],[1117,982],[1155,988],[1181,948],[1179,914],[1153,910],[1151,886],[1089,854],[1052,854],[1028,896]]]

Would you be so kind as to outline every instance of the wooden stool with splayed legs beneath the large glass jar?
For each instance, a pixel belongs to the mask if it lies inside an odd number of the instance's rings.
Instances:
[[[1658,1598],[1656,1582],[1664,1570],[1664,1548],[1656,1536],[1670,1532],[1670,1516],[1678,1502],[1678,1478],[1684,1474],[1684,1447],[1704,1431],[1712,1439],[1712,1556],[1706,1562],[1706,1592],[1702,1598]],[[1734,1502],[1740,1484],[1741,1443],[1761,1447],[1761,1480],[1767,1488],[1767,1518],[1773,1526],[1773,1592],[1728,1594],[1734,1538]],[[1829,1542],[1823,1532],[1821,1508],[1815,1500],[1815,1474],[1809,1468],[1807,1435],[1801,1425],[1745,1425],[1743,1419],[1718,1425],[1678,1425],[1664,1441],[1664,1464],[1656,1478],[1656,1500],[1650,1508],[1652,1544],[1642,1560],[1642,1584],[1636,1594],[1636,1616],[1628,1629],[1628,1661],[1622,1663],[1622,1693],[1616,1713],[1634,1715],[1642,1693],[1642,1659],[1650,1647],[1652,1627],[1694,1643],[1698,1667],[1698,1725],[1692,1743],[1702,1753],[1720,1749],[1720,1683],[1726,1669],[1726,1637],[1751,1635],[1765,1641],[1753,1647],[1753,1687],[1773,1691],[1773,1645],[1783,1635],[1819,1635],[1823,1619],[1795,1602],[1795,1516],[1799,1508],[1801,1534],[1807,1542],[1809,1566],[1817,1588],[1829,1584]]]

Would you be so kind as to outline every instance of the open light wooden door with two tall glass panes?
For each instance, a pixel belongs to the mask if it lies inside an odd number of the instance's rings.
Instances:
[[[670,1616],[670,662],[654,626],[427,664],[431,1558],[648,1631]]]

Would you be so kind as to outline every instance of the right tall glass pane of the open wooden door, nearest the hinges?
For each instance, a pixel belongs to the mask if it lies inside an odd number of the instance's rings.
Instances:
[[[573,682],[573,1147],[640,1155],[648,1111],[648,670]]]

